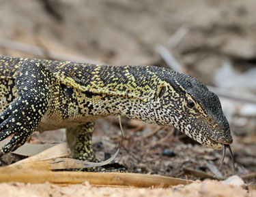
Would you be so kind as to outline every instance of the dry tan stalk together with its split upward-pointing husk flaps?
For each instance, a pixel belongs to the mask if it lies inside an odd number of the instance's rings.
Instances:
[[[0,167],[0,182],[44,183],[48,181],[55,184],[78,184],[88,181],[91,185],[122,187],[169,187],[193,183],[193,181],[158,175],[50,171],[50,169],[69,168],[74,165],[79,168],[83,165],[83,161],[59,158],[67,154],[67,146],[63,143],[10,166]]]

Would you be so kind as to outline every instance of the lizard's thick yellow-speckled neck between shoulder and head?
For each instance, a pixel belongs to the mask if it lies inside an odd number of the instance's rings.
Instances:
[[[79,85],[73,86],[83,116],[123,115],[158,124],[154,111],[160,102],[150,102],[162,83],[156,75],[158,67],[97,65],[87,69],[87,77],[80,77],[75,81]]]

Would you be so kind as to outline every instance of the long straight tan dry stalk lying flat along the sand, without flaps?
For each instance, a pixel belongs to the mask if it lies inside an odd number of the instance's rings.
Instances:
[[[5,167],[3,167],[5,168]],[[87,173],[87,172],[52,172],[30,169],[1,172],[0,182],[79,184],[88,181],[94,186],[122,187],[171,187],[187,185],[193,181],[163,177],[158,175],[143,175],[135,173]]]

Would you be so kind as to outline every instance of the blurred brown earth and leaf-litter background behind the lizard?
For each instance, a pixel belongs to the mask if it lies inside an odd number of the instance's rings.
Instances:
[[[255,0],[0,0],[0,54],[157,65],[193,75],[220,97],[233,135],[236,172],[246,175],[256,168],[255,8]],[[118,160],[130,171],[203,179],[221,162],[221,151],[202,147],[174,128],[123,122]],[[53,141],[53,135],[55,142],[65,139],[59,131],[34,135],[33,141]],[[118,121],[99,120],[95,136],[98,154],[113,153]],[[231,174],[227,157],[218,176]]]

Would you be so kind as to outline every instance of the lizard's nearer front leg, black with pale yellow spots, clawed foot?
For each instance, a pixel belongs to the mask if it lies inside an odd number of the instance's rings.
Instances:
[[[14,134],[0,156],[23,145],[38,127],[51,99],[52,73],[39,62],[23,62],[16,73],[18,97],[0,114],[0,141]]]

